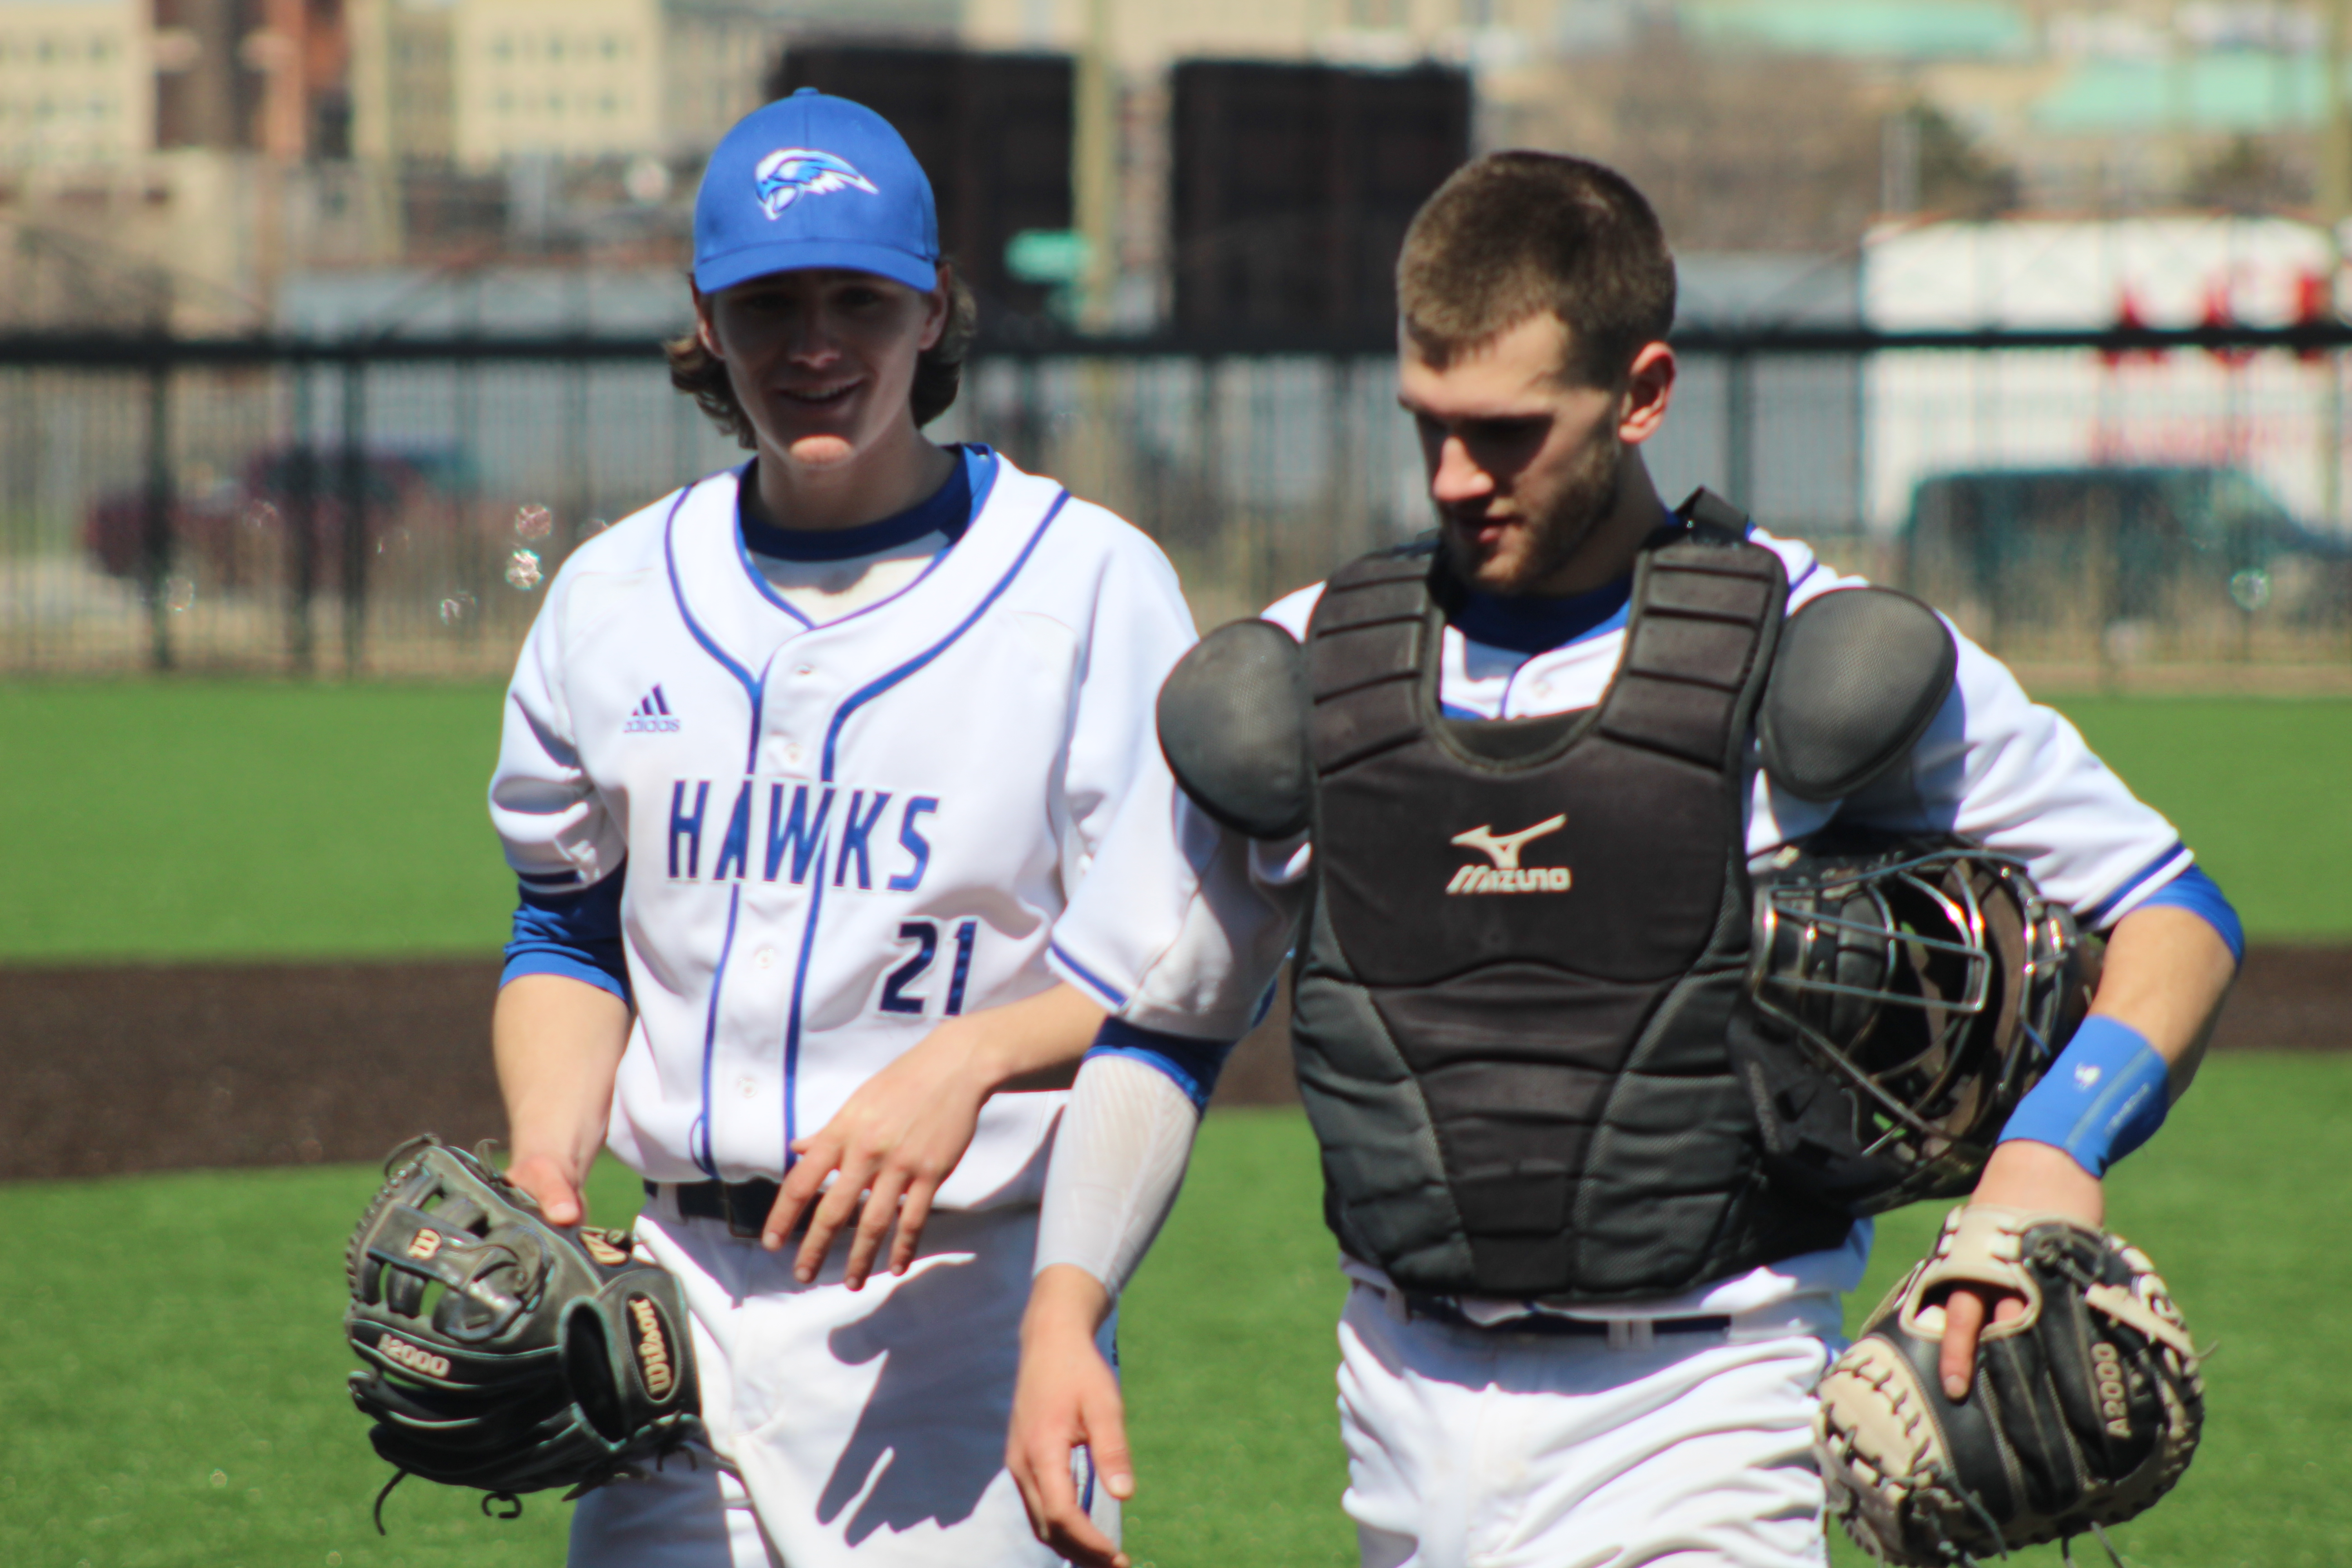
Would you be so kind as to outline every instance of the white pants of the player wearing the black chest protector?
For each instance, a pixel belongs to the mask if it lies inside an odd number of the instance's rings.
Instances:
[[[1835,1298],[1649,1340],[1341,1314],[1364,1568],[1825,1568],[1813,1385]],[[1649,1342],[1644,1342],[1649,1340]]]

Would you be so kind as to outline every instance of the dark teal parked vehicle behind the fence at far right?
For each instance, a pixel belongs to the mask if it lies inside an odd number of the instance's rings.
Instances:
[[[2098,578],[2105,621],[2173,609],[2183,585],[2230,592],[2241,609],[2298,585],[2296,616],[2343,614],[2352,541],[2300,522],[2244,468],[1985,468],[1912,489],[1903,522],[1912,581],[1952,576],[1983,599],[2016,597],[2027,576],[2077,590]],[[2201,585],[2201,588],[2197,588]]]

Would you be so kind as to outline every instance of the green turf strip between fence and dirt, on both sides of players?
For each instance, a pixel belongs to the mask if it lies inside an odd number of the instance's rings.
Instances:
[[[2065,698],[2258,938],[2352,936],[2352,703]],[[487,952],[489,686],[0,686],[0,961]],[[38,759],[38,762],[35,762]]]

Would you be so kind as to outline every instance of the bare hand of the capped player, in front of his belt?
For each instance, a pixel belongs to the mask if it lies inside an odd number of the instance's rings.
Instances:
[[[931,1197],[971,1147],[981,1105],[995,1074],[976,1048],[985,1013],[950,1018],[882,1072],[866,1079],[833,1121],[793,1143],[797,1164],[783,1178],[760,1246],[781,1251],[800,1213],[814,1201],[809,1234],[793,1260],[793,1279],[809,1284],[826,1265],[835,1234],[856,1218],[842,1284],[866,1284],[882,1237],[896,1220],[889,1269],[906,1274],[931,1218]],[[833,1187],[823,1190],[826,1178]],[[818,1192],[823,1190],[823,1197]],[[863,1211],[861,1211],[863,1197]]]

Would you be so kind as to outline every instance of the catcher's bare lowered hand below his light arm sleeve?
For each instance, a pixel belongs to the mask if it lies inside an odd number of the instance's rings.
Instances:
[[[1021,1319],[1021,1380],[1004,1434],[1004,1469],[1021,1488],[1030,1528],[1080,1568],[1127,1568],[1127,1554],[1087,1516],[1070,1455],[1087,1448],[1103,1490],[1120,1502],[1136,1495],[1120,1378],[1094,1342],[1108,1309],[1101,1281],[1084,1269],[1056,1265],[1037,1276]]]

